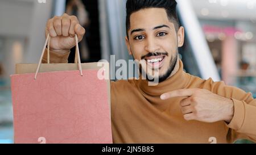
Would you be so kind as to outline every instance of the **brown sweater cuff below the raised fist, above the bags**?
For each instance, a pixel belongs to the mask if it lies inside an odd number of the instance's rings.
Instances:
[[[50,63],[52,64],[68,63],[69,54],[70,54],[70,51],[64,54],[59,54],[53,51],[49,51]],[[44,52],[42,63],[47,63],[47,49]]]

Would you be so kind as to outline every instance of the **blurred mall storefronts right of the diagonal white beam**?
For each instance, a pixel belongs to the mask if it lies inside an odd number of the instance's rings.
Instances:
[[[220,77],[256,97],[256,1],[192,0]]]

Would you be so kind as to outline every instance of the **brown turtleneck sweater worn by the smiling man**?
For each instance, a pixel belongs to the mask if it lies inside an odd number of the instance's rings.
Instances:
[[[51,62],[67,62],[67,57],[68,54],[52,55]],[[186,121],[179,104],[183,98],[160,99],[168,91],[191,88],[207,89],[232,99],[232,121],[229,124]],[[256,141],[256,99],[251,93],[226,86],[224,82],[213,82],[211,78],[191,76],[183,71],[181,61],[177,73],[157,86],[136,79],[112,82],[111,115],[114,143],[210,143],[210,137],[216,138],[217,143]]]

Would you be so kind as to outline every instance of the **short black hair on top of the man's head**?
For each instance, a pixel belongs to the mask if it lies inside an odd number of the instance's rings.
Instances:
[[[130,29],[130,16],[141,9],[163,8],[166,10],[168,18],[174,23],[176,31],[179,29],[179,19],[176,11],[177,2],[175,0],[127,0],[126,2],[126,35]]]

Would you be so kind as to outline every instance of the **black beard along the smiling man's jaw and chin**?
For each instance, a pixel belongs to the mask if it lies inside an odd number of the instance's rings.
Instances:
[[[178,54],[177,54],[177,55],[178,55]],[[157,82],[160,83],[160,82],[166,81],[166,79],[171,76],[171,74],[172,74],[172,72],[174,71],[174,68],[175,68],[175,66],[176,66],[176,64],[177,64],[177,55],[176,55],[174,61],[172,61],[172,59],[170,60],[170,66],[169,66],[169,68],[168,68],[166,74],[164,74],[163,76],[159,76],[159,78],[148,77],[148,74],[146,74],[146,73],[144,72],[144,70],[141,68],[141,66],[139,67],[139,73],[141,73],[141,74],[143,73],[142,75],[146,75],[147,81],[150,81],[150,82],[155,82],[155,81],[157,81]]]

